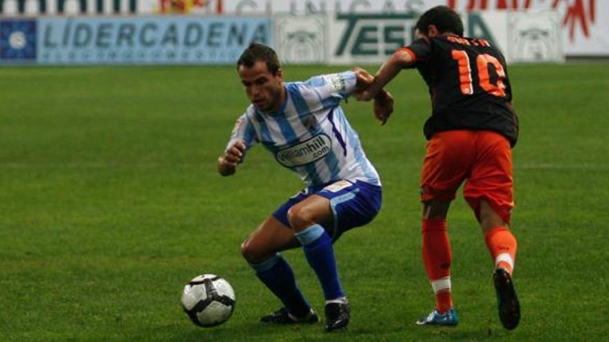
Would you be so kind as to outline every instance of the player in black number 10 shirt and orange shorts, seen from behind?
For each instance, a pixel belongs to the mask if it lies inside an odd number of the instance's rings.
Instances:
[[[458,323],[446,214],[464,183],[464,198],[480,222],[495,263],[499,318],[512,330],[520,321],[511,276],[517,244],[508,227],[513,207],[511,148],[518,138],[518,118],[511,106],[505,58],[489,41],[463,37],[459,15],[447,6],[421,15],[415,32],[417,40],[385,61],[358,99],[372,98],[403,68],[417,68],[429,87],[432,115],[424,126],[429,142],[421,172],[422,235],[436,305],[417,323]]]

